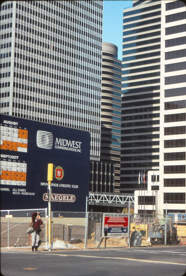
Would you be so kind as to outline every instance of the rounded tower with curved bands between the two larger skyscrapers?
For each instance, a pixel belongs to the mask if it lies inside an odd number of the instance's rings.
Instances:
[[[115,166],[114,191],[120,191],[121,60],[117,46],[102,44],[101,154],[100,160]]]

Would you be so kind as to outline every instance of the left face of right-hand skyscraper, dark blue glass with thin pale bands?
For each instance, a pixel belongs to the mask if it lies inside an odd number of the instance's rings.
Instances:
[[[159,167],[160,9],[159,2],[151,6],[140,6],[128,12],[124,10],[121,104],[122,192],[134,192],[135,189],[139,189],[140,170],[145,169],[147,172]],[[145,177],[147,182],[147,175]],[[145,200],[147,205],[150,204],[150,197]]]

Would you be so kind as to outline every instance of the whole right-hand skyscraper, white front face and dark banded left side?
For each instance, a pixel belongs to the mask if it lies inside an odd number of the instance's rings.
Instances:
[[[133,1],[123,20],[121,190],[157,170],[159,212],[185,212],[185,1]]]

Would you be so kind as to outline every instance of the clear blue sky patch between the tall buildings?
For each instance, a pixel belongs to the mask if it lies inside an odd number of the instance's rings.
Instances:
[[[118,47],[118,58],[122,59],[123,9],[132,7],[130,0],[103,1],[103,42]]]

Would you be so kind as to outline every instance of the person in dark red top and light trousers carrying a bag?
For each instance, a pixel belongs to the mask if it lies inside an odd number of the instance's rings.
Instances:
[[[39,251],[38,248],[38,241],[40,239],[40,225],[43,224],[40,213],[39,212],[34,212],[32,214],[32,222],[33,222],[33,229],[34,232],[32,233],[32,251],[34,251],[34,246],[35,246],[35,251]],[[37,230],[37,231],[36,231]]]

